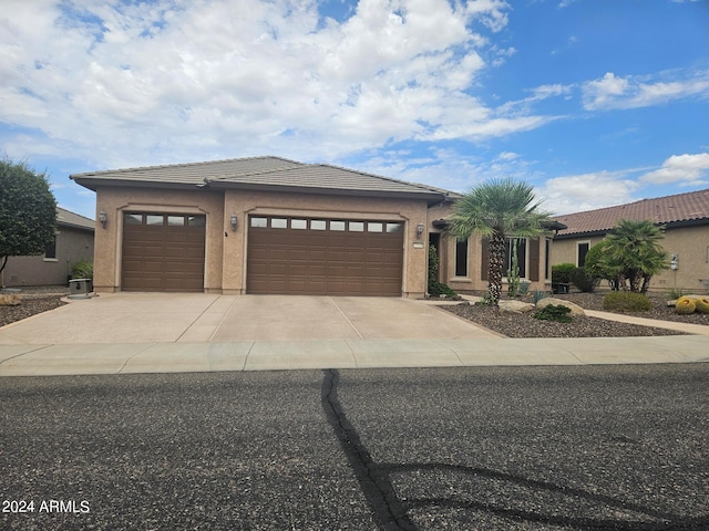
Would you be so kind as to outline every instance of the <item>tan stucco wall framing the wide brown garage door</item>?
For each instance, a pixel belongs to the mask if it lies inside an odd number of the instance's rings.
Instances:
[[[224,293],[246,292],[247,221],[250,215],[403,221],[402,293],[407,298],[420,298],[425,292],[427,231],[423,231],[421,240],[417,240],[417,225],[427,226],[425,201],[227,190],[224,218],[228,220],[232,214],[238,217],[238,228],[236,231],[229,229],[229,237],[224,242]]]

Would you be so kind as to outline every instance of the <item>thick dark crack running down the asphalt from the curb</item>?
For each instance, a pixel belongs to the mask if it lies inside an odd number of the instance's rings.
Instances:
[[[362,493],[367,499],[374,521],[382,531],[415,531],[405,509],[397,497],[389,480],[389,475],[374,462],[367,447],[362,444],[354,427],[347,419],[342,405],[337,396],[340,374],[335,369],[323,371],[321,386],[322,409],[328,423],[347,456]]]

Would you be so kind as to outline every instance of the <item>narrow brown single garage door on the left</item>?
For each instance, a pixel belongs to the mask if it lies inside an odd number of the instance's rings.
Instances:
[[[204,291],[205,216],[123,215],[123,291]]]

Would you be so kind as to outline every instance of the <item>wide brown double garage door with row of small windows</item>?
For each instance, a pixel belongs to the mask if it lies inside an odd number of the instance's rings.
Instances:
[[[251,216],[247,292],[401,295],[403,223]]]

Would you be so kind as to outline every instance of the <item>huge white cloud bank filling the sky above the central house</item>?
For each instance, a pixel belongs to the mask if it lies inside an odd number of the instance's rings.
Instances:
[[[101,167],[335,159],[390,140],[528,131],[549,118],[470,92],[490,49],[473,22],[500,31],[508,9],[361,0],[338,22],[315,0],[4,0],[0,122],[48,155]]]

